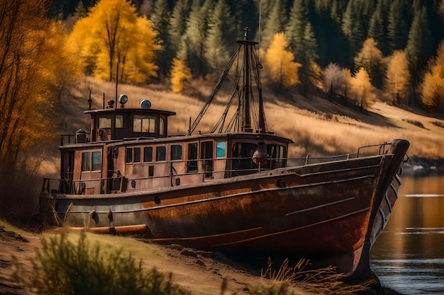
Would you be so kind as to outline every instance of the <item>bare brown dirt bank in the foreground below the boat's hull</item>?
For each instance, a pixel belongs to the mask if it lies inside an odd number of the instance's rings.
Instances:
[[[43,233],[45,234],[47,233]],[[3,221],[0,223],[2,248],[0,295],[33,294],[13,279],[13,272],[16,270],[16,264],[28,271],[32,270],[31,261],[35,256],[35,249],[41,246],[41,238],[43,238],[41,234],[28,233],[23,229],[10,229],[9,224]],[[180,284],[193,295],[221,294],[221,283],[224,279],[228,282],[227,294],[249,294],[248,288],[260,284],[263,279],[253,274],[257,270],[251,272],[248,265],[230,260],[219,253],[203,255],[199,254],[201,251],[190,250],[189,253],[196,253],[196,255],[184,254],[183,250],[174,248],[172,245],[162,246],[119,236],[88,234],[88,239],[91,245],[92,243],[101,243],[104,247],[125,245],[125,251],[131,253],[133,258],[141,259],[144,268],[156,267],[165,274],[171,272],[174,283]],[[404,295],[380,285],[379,279],[377,283],[373,289],[358,294]],[[316,288],[306,291],[302,286],[298,287],[297,283],[295,286],[297,290],[301,289],[301,293],[298,294],[318,294]]]

